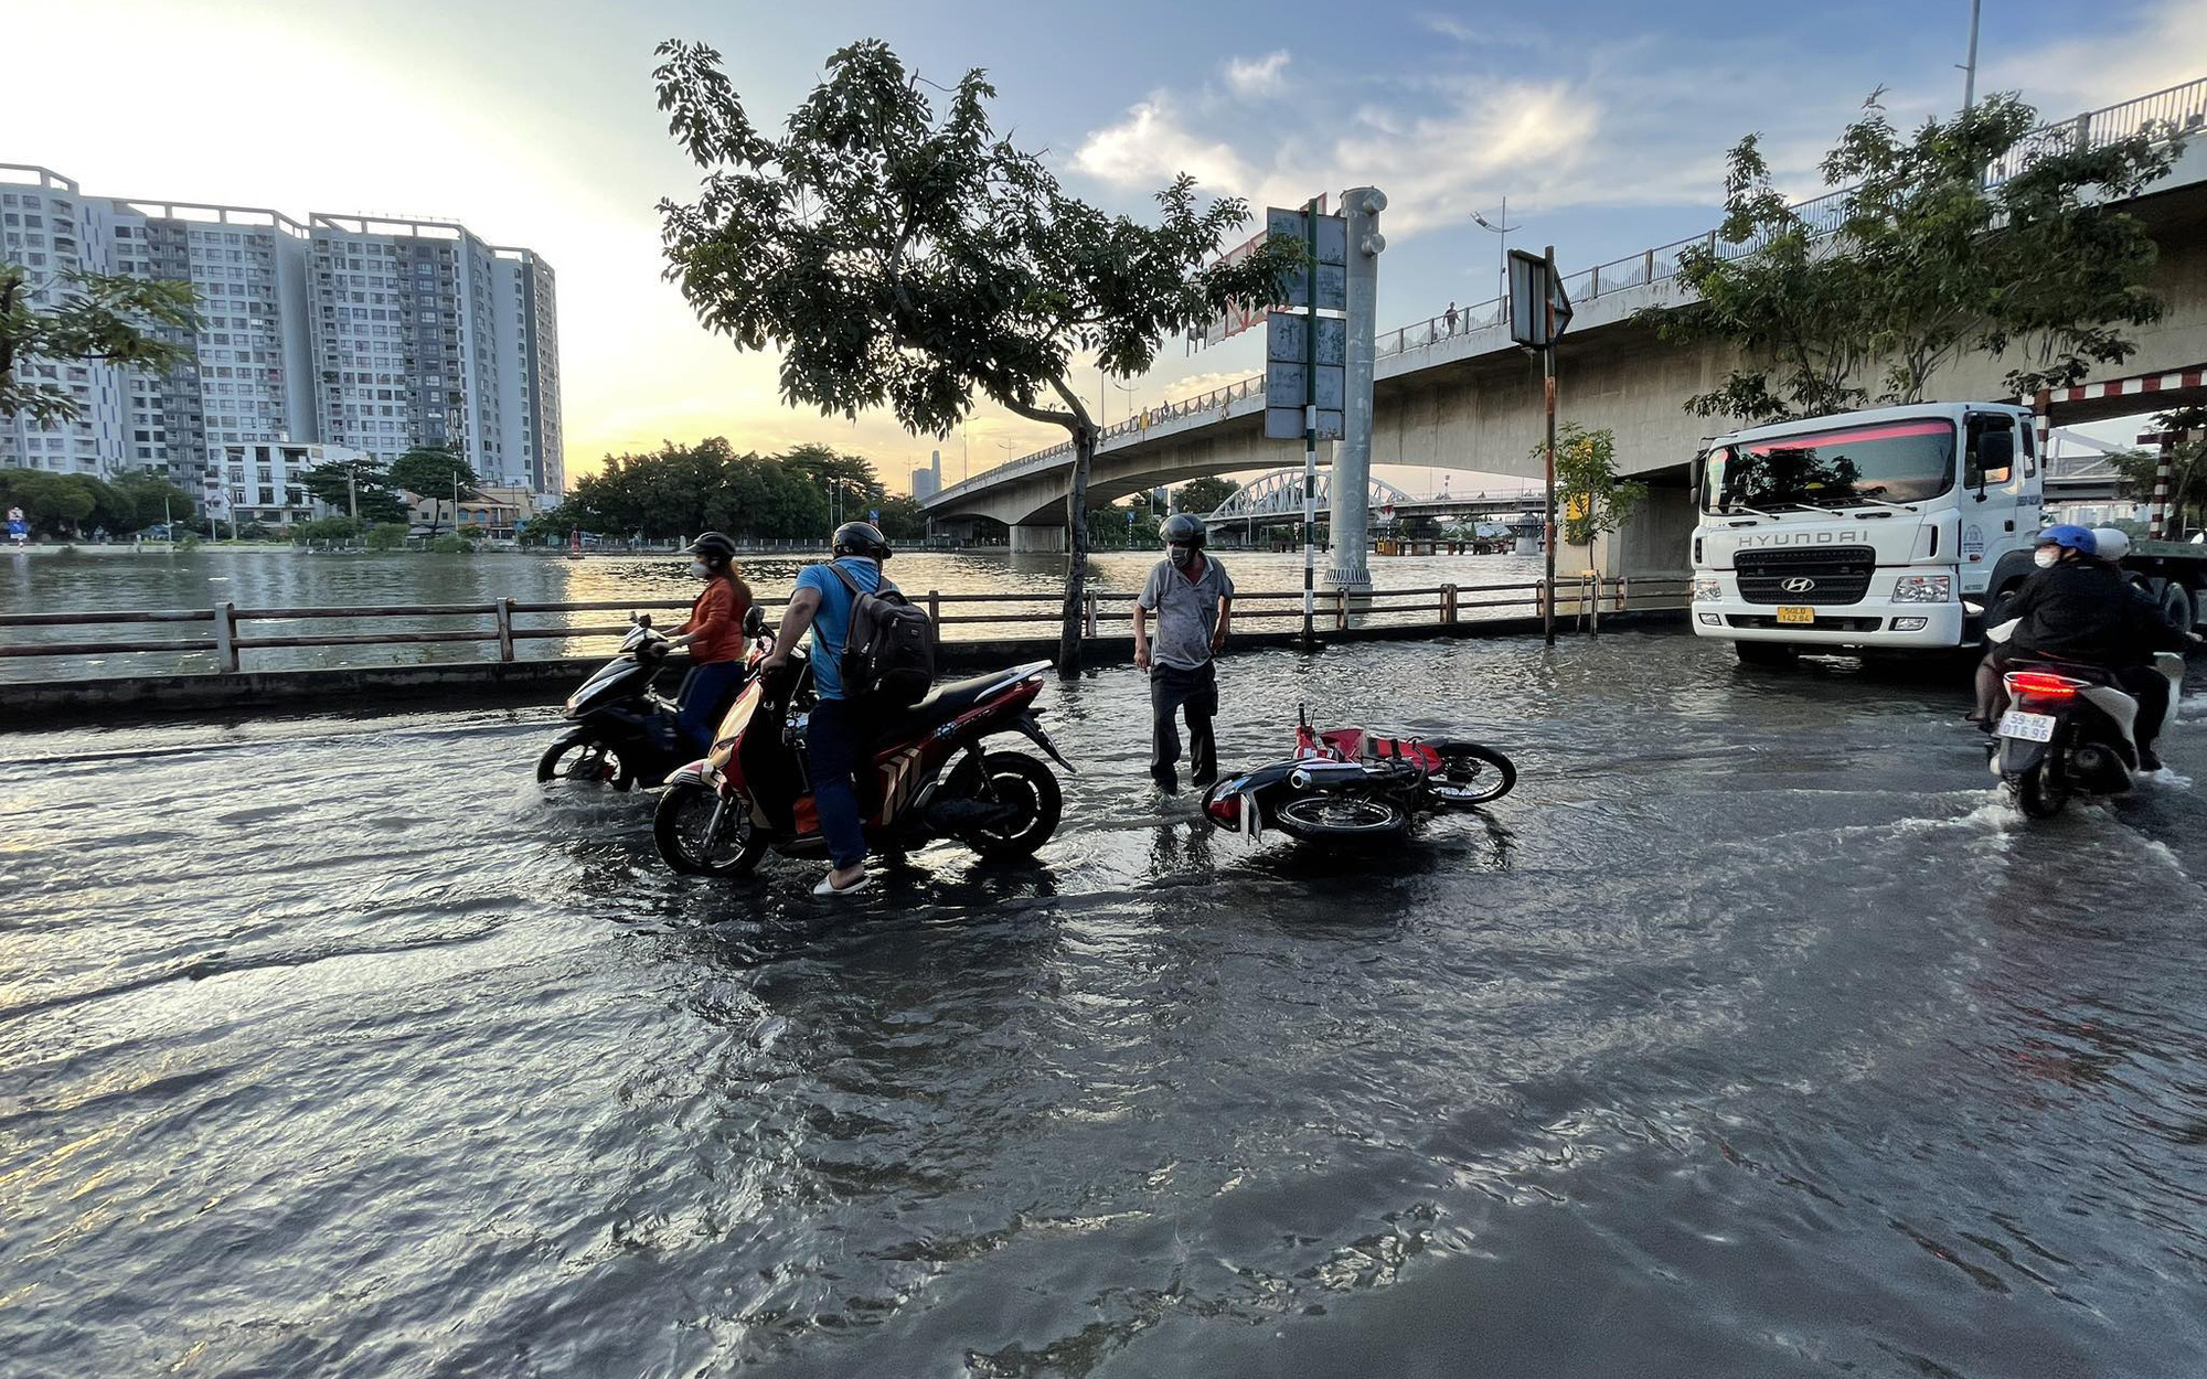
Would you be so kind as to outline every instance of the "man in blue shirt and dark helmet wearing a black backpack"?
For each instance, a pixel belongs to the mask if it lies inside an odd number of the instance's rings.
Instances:
[[[850,609],[856,594],[836,576],[847,574],[859,589],[876,594],[887,580],[881,563],[889,543],[872,523],[843,523],[834,530],[830,565],[806,565],[790,589],[790,607],[775,635],[775,649],[759,671],[788,664],[797,638],[812,631],[812,721],[806,728],[806,761],[812,770],[812,805],[821,816],[828,856],[834,867],[812,887],[814,896],[847,896],[865,889],[865,825],[859,819],[859,792],[852,770],[867,755],[870,735],[843,693],[843,646],[850,644]]]

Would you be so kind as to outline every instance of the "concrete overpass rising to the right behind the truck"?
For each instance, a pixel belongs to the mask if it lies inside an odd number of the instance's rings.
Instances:
[[[2167,179],[2128,205],[2161,247],[2152,287],[2167,304],[2161,322],[2132,331],[2139,353],[2105,371],[2077,397],[2057,397],[2055,424],[2088,421],[2154,406],[2207,402],[2207,388],[2176,388],[2125,402],[2108,380],[2196,377],[2207,362],[2207,77],[2152,97],[2079,115],[2041,137],[2112,141],[2147,119],[2187,130],[2189,146]],[[1832,214],[1836,196],[1803,207]],[[1704,236],[1713,243],[1713,236]],[[1715,388],[1735,355],[1721,346],[1680,349],[1633,324],[1644,307],[1684,300],[1675,280],[1686,243],[1649,249],[1587,269],[1569,280],[1578,316],[1558,349],[1565,419],[1609,428],[1620,470],[1655,485],[1655,501],[1609,543],[1616,569],[1675,569],[1693,527],[1686,461],[1715,426],[1684,410],[1693,393]],[[1435,318],[1377,340],[1373,384],[1373,466],[1483,470],[1538,477],[1532,448],[1540,439],[1540,371],[1510,344],[1499,302]],[[2013,364],[1973,355],[1938,375],[1947,397],[2000,397]],[[2192,371],[2192,373],[2187,373]],[[2194,397],[2194,393],[2198,393]],[[1181,483],[1205,474],[1267,470],[1300,459],[1300,441],[1262,439],[1262,375],[1203,397],[1152,408],[1148,426],[1123,421],[1106,430],[1090,477],[1090,503]],[[2114,410],[2110,410],[2114,408]],[[1291,455],[1296,452],[1296,455]],[[1064,549],[1064,501],[1073,448],[1015,459],[945,488],[925,507],[936,519],[978,516],[1004,523],[1013,549]]]

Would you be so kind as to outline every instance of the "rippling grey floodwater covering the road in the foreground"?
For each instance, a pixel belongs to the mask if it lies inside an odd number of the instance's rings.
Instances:
[[[1223,682],[1521,785],[1209,836],[1108,671],[1035,865],[830,905],[547,710],[0,739],[0,1370],[2207,1372],[2198,675],[2046,825],[1960,686],[1682,635]]]

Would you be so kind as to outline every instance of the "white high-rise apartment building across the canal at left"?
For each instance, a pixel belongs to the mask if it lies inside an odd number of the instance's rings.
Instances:
[[[302,225],[260,207],[86,199],[46,168],[0,163],[0,254],[31,269],[40,304],[84,269],[188,280],[201,311],[199,331],[170,333],[190,360],[168,375],[49,364],[84,417],[0,421],[0,466],[161,468],[221,492],[241,446],[388,461],[448,443],[488,485],[565,490],[554,278],[527,249],[444,221]]]

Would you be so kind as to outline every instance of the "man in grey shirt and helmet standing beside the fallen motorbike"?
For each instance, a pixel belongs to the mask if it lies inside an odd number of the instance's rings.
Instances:
[[[1203,519],[1174,512],[1165,519],[1165,558],[1134,600],[1134,664],[1150,671],[1150,779],[1165,794],[1181,788],[1176,713],[1187,715],[1187,768],[1196,785],[1218,779],[1218,666],[1212,653],[1227,644],[1234,620],[1234,580],[1203,554]],[[1156,613],[1156,646],[1150,644]]]

